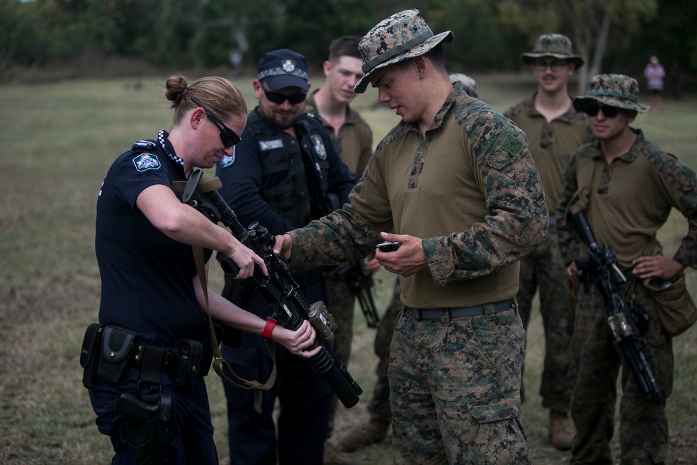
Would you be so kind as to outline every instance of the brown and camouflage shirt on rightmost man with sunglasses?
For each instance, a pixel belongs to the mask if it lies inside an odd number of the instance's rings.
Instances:
[[[565,188],[558,209],[560,245],[565,262],[583,254],[566,212],[580,198],[588,204],[585,216],[595,240],[617,254],[620,268],[631,261],[661,252],[656,232],[677,208],[688,221],[687,235],[675,261],[697,265],[697,180],[695,171],[674,155],[644,139],[641,130],[625,155],[607,164],[599,142],[574,153],[565,172]]]

